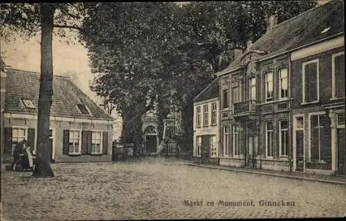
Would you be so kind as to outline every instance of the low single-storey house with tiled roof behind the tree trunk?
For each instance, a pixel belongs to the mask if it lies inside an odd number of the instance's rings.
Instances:
[[[40,74],[17,69],[1,72],[5,84],[3,156],[26,139],[37,148],[37,107]],[[3,89],[1,88],[1,91]],[[51,162],[111,161],[113,118],[76,87],[69,78],[53,76],[48,148]]]

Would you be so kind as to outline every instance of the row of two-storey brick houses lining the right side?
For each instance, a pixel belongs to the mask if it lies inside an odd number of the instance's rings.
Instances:
[[[216,73],[219,91],[210,96],[219,107],[217,156],[209,143],[199,154],[197,137],[210,132],[199,133],[206,109],[195,99],[194,157],[214,157],[224,166],[345,175],[343,1],[276,23],[271,16],[266,33],[246,51],[236,49],[239,56]]]

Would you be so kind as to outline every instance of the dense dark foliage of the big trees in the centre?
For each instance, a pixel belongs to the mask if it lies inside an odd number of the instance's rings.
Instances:
[[[262,36],[268,15],[282,22],[314,6],[316,1],[98,3],[81,36],[99,73],[91,89],[116,105],[125,119],[123,136],[135,133],[126,127],[149,109],[158,110],[161,130],[167,113],[182,110],[190,136],[192,99],[212,73],[230,64],[230,51]]]

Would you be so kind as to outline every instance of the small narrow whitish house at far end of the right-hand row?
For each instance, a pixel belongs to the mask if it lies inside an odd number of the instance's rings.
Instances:
[[[219,79],[194,98],[193,157],[219,164]]]

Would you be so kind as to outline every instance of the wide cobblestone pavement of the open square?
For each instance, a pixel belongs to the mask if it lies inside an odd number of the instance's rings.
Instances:
[[[1,220],[316,218],[346,214],[344,185],[210,170],[172,159],[53,164],[53,170],[56,177],[39,179],[30,173],[2,172]],[[285,206],[268,206],[269,202],[282,204],[282,200]],[[233,206],[234,202],[238,206]]]

